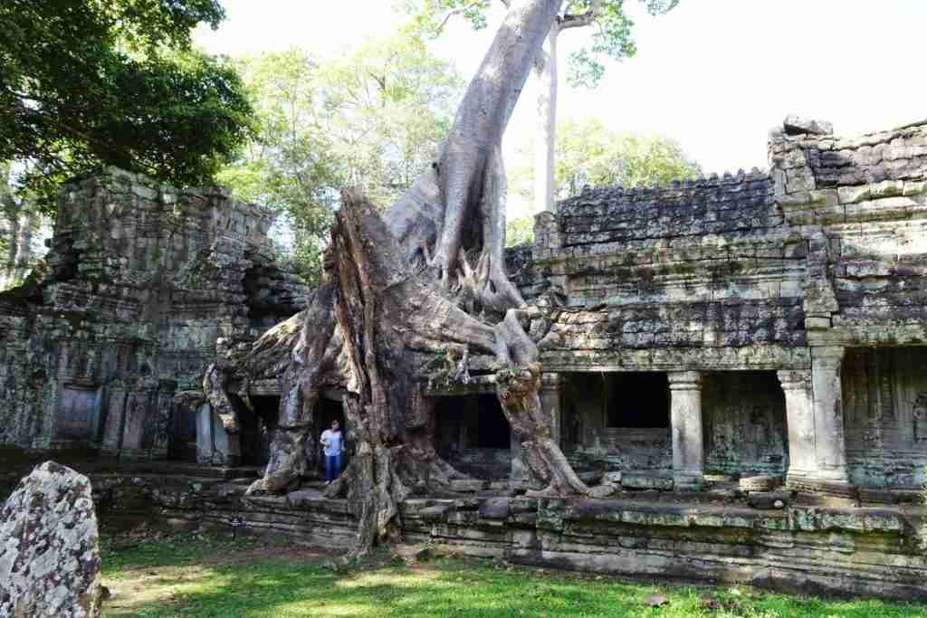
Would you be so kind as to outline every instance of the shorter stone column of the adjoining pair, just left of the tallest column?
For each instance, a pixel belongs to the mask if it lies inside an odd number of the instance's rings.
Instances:
[[[778,376],[785,393],[785,417],[789,430],[786,482],[795,485],[814,477],[818,471],[811,372],[778,372]]]

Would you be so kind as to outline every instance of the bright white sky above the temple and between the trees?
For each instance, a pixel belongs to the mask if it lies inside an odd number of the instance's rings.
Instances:
[[[391,0],[223,0],[228,19],[197,31],[214,54],[306,47],[336,54],[400,21]],[[608,66],[594,90],[561,84],[559,114],[598,117],[617,131],[679,141],[705,171],[767,166],[768,129],[789,112],[831,120],[836,132],[889,129],[927,118],[927,0],[681,0],[636,16],[636,57]],[[459,23],[436,44],[469,78],[492,25]],[[588,31],[565,32],[561,61]],[[561,64],[563,66],[563,64]],[[528,80],[506,135],[524,141],[535,117]]]

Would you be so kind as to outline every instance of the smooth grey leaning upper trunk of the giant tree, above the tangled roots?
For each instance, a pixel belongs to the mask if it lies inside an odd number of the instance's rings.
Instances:
[[[438,162],[387,210],[387,223],[406,257],[427,263],[441,289],[458,284],[462,249],[477,253],[486,271],[478,300],[497,312],[524,304],[504,270],[502,133],[561,4],[512,3],[470,82]]]

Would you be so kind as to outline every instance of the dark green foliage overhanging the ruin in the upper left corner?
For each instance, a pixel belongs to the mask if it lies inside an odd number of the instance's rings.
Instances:
[[[0,3],[0,161],[45,212],[109,165],[209,183],[250,134],[235,70],[190,46],[223,17],[217,0]]]

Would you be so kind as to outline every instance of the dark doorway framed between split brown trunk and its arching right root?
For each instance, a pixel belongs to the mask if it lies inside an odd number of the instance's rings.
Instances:
[[[495,394],[438,397],[435,447],[460,472],[484,480],[507,479],[512,469],[512,428]]]

